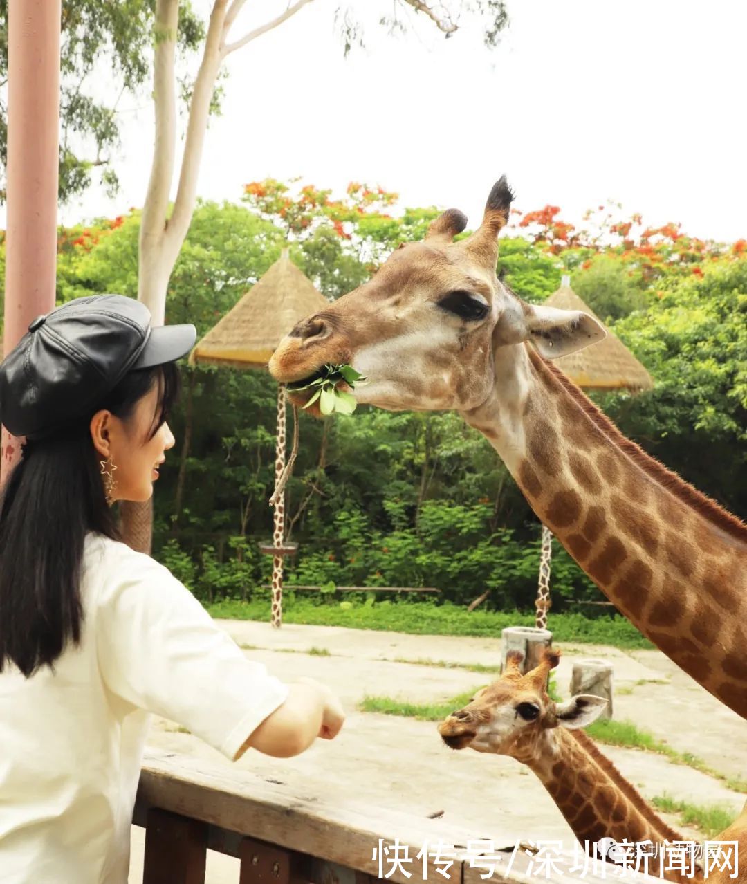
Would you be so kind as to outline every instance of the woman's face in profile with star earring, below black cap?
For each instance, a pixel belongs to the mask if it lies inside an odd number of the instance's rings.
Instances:
[[[109,412],[105,413],[102,430],[106,433],[104,438],[109,442],[108,456],[117,468],[113,471],[113,500],[141,502],[149,500],[153,494],[158,468],[165,460],[165,453],[175,442],[168,423],[162,423],[151,436],[158,410],[159,388],[154,384],[126,421]],[[96,448],[101,453],[98,444]]]

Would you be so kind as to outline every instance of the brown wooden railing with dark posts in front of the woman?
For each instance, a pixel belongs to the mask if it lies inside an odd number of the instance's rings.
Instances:
[[[239,858],[237,884],[377,884],[382,878],[396,884],[423,879],[438,884],[575,879],[600,884],[614,880],[617,871],[606,866],[609,872],[594,873],[590,860],[582,874],[574,869],[578,857],[565,853],[553,863],[552,873],[537,873],[532,858],[513,843],[493,839],[493,850],[488,850],[484,833],[466,832],[445,819],[371,807],[361,797],[325,804],[323,796],[300,795],[258,774],[162,751],[146,756],[133,822],[146,827],[143,884],[203,884],[208,849]],[[484,843],[482,851],[478,840]],[[444,849],[439,857],[438,844],[454,850]],[[431,856],[423,861],[424,847]],[[380,866],[382,848],[390,852]],[[399,865],[394,850],[402,859]],[[452,865],[439,864],[438,858]],[[487,877],[492,865],[494,873]],[[630,871],[622,880],[659,881]]]

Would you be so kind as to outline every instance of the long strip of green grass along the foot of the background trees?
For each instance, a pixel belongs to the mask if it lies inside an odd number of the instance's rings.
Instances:
[[[389,630],[420,636],[488,636],[499,638],[507,626],[534,626],[533,613],[472,611],[450,602],[410,602],[385,599],[372,605],[337,599],[292,598],[287,587],[283,618],[288,623],[343,626],[352,629]],[[262,598],[247,602],[223,599],[208,607],[213,617],[232,620],[270,620],[270,603]],[[618,648],[652,648],[653,645],[623,617],[589,619],[580,613],[553,615],[553,640],[563,643],[609,644]]]

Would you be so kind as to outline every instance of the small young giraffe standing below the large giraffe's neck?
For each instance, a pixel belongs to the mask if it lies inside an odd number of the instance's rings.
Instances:
[[[560,652],[545,649],[538,666],[522,674],[522,653],[508,652],[498,681],[478,690],[468,705],[451,713],[438,725],[438,733],[451,749],[469,747],[508,755],[528,766],[589,856],[608,838],[619,844],[657,845],[658,856],[651,857],[648,869],[640,867],[656,875],[661,845],[687,839],[659,819],[583,733],[581,728],[598,717],[606,700],[581,694],[556,704],[548,696],[547,677],[559,661]],[[694,856],[692,868],[690,877],[666,871],[663,877],[678,882],[702,880]]]

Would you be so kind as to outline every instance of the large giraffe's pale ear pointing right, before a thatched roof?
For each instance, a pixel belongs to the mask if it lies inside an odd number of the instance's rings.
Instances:
[[[583,310],[561,310],[519,301],[500,317],[493,338],[515,344],[530,340],[545,359],[557,359],[606,338],[605,327]]]

